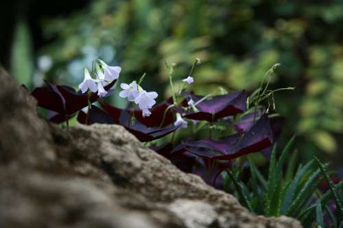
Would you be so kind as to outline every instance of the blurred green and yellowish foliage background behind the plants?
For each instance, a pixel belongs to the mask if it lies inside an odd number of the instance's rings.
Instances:
[[[165,61],[177,64],[181,79],[200,58],[193,73],[197,92],[218,86],[252,91],[279,62],[271,88],[296,87],[276,94],[276,111],[287,118],[281,144],[297,134],[304,160],[318,154],[342,163],[342,1],[14,2],[27,5],[12,7],[11,42],[1,40],[8,49],[1,61],[21,83],[76,86],[83,67],[102,58],[123,68],[121,81],[146,72],[143,87],[167,96]]]

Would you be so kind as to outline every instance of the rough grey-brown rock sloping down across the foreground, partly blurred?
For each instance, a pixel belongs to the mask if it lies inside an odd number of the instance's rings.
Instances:
[[[300,227],[251,214],[123,127],[49,125],[0,80],[0,227]]]

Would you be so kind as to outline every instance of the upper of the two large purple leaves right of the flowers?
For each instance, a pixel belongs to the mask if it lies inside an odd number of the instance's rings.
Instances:
[[[217,121],[219,118],[233,116],[246,110],[247,94],[245,91],[230,92],[204,99],[196,105],[198,112],[189,110],[184,116],[196,121]],[[187,99],[193,99],[197,103],[204,97],[188,94]]]

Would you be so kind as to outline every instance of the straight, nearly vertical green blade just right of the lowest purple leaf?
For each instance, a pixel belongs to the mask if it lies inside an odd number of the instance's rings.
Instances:
[[[265,214],[270,211],[270,203],[275,190],[275,169],[276,169],[276,144],[272,150],[272,156],[270,157],[269,173],[268,173],[268,186],[265,195]]]

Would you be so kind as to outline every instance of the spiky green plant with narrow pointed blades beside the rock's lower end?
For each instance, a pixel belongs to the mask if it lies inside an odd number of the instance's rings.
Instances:
[[[317,157],[307,164],[296,167],[296,153],[289,156],[294,137],[289,140],[283,151],[277,156],[276,146],[272,150],[268,169],[268,178],[263,176],[251,159],[249,162],[249,179],[238,181],[242,166],[226,170],[224,190],[233,193],[248,210],[264,216],[286,215],[297,218],[304,227],[318,225],[325,227],[324,216],[328,214],[331,227],[342,227],[342,187],[343,180],[334,184],[326,169]],[[287,157],[290,157],[287,160]],[[287,166],[285,162],[287,160]],[[329,190],[320,193],[320,183],[325,180]],[[317,199],[317,200],[316,200]],[[337,213],[328,207],[330,199],[335,200]]]

